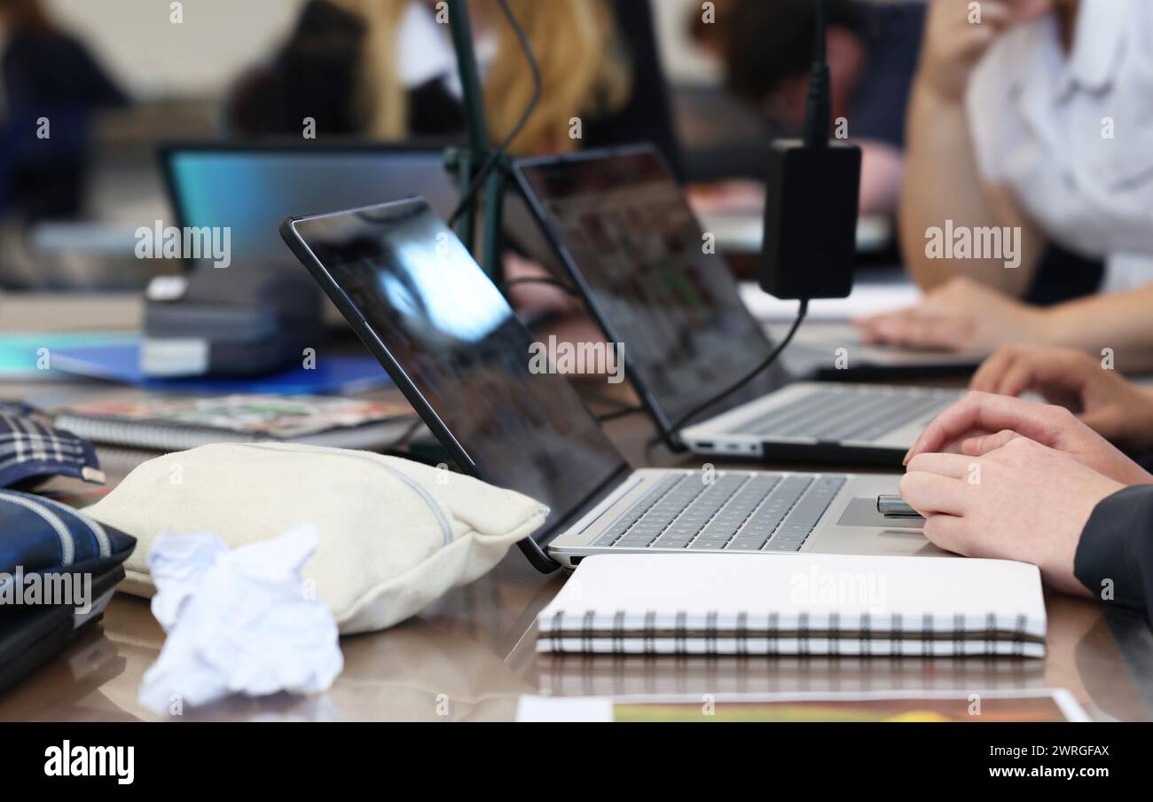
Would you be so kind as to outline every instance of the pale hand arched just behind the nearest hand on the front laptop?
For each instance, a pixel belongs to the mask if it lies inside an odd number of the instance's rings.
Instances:
[[[1121,485],[1153,484],[1153,475],[1069,410],[986,392],[970,392],[937,415],[913,443],[905,464],[922,454],[981,457],[1018,439],[1061,451]]]

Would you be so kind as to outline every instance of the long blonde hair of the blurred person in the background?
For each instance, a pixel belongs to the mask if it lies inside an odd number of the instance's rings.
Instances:
[[[397,29],[409,0],[333,0],[367,25],[357,118],[375,138],[407,134],[408,103],[394,60]],[[496,0],[477,10],[496,28],[497,55],[484,81],[490,136],[503,140],[533,95],[532,75],[515,31]],[[572,118],[613,111],[628,99],[631,69],[604,0],[508,0],[541,68],[541,99],[512,142],[515,153],[571,151]],[[475,23],[475,21],[474,21]]]

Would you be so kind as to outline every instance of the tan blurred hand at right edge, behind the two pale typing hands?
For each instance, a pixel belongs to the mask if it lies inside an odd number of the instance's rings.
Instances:
[[[1153,392],[1073,348],[1003,346],[973,376],[972,389],[1004,396],[1038,392],[1130,449],[1153,448]]]

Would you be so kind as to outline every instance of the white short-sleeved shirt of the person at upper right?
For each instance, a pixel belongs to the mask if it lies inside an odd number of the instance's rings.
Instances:
[[[1153,283],[1153,2],[1082,0],[1068,55],[1053,16],[1015,28],[966,104],[988,181],[1050,239],[1103,258],[1105,291]]]

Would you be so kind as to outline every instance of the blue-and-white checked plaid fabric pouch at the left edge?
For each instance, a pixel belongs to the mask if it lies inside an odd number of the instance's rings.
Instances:
[[[104,484],[92,443],[55,428],[28,404],[0,402],[0,487],[31,489],[52,477]]]

